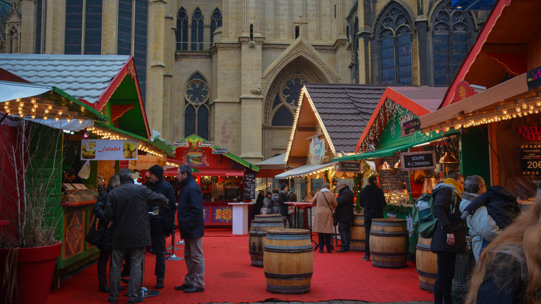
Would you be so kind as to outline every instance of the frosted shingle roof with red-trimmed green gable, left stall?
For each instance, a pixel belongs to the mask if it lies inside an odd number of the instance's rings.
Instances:
[[[151,138],[131,56],[2,54],[1,69],[58,87],[102,112],[112,126]]]

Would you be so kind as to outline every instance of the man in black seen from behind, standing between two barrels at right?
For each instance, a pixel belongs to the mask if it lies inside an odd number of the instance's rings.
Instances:
[[[364,231],[366,234],[363,260],[370,261],[370,228],[372,227],[372,219],[381,219],[383,217],[383,208],[387,205],[383,190],[377,187],[377,176],[372,175],[368,178],[368,185],[359,194],[359,205],[364,208]]]

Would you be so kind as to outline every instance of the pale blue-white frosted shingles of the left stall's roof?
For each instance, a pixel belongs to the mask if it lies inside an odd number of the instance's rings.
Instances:
[[[2,54],[0,68],[38,85],[53,85],[96,103],[130,56]]]

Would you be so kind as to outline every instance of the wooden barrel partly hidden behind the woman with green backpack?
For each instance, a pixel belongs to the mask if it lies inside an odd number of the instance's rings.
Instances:
[[[432,239],[419,237],[415,248],[415,263],[417,264],[417,273],[419,275],[419,285],[422,290],[434,292],[434,282],[436,273],[438,273],[438,255],[430,250]]]

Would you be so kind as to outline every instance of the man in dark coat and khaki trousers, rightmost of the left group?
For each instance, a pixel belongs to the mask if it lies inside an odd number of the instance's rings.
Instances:
[[[188,273],[184,276],[184,284],[175,286],[175,289],[187,293],[203,292],[205,291],[203,194],[191,175],[191,167],[187,164],[178,167],[177,175],[180,182],[178,229],[180,237],[184,239],[184,261]]]

